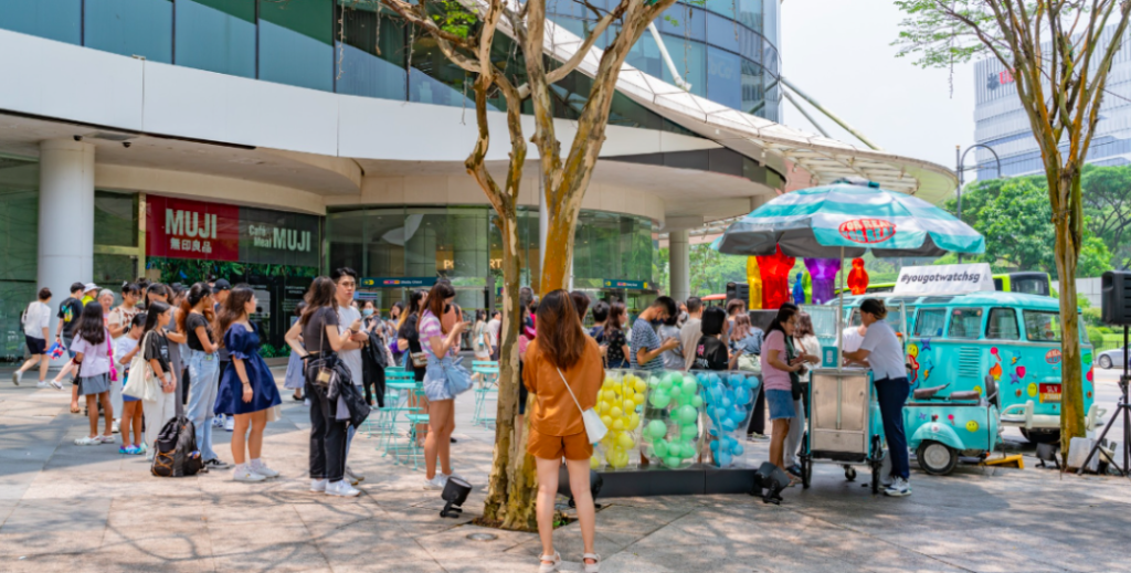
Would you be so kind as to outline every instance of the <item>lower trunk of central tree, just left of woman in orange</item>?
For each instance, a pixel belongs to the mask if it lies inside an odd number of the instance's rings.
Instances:
[[[518,415],[518,228],[513,212],[497,219],[502,232],[502,324],[500,327],[499,407],[495,415],[495,445],[487,483],[483,518],[503,529],[537,530],[534,514],[534,462],[527,460],[525,428],[515,427]],[[516,431],[517,429],[517,431]]]

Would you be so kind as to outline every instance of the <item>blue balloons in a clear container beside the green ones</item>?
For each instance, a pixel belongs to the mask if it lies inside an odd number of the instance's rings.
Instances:
[[[744,451],[739,440],[761,389],[758,376],[743,372],[694,373],[707,398],[710,451],[716,467],[732,466]]]

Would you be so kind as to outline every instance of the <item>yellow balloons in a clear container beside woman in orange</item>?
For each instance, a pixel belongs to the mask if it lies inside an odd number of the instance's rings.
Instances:
[[[589,467],[605,465],[613,469],[634,467],[640,459],[640,410],[645,403],[648,384],[631,372],[606,371],[605,381],[597,392],[597,414],[608,433],[597,444]]]

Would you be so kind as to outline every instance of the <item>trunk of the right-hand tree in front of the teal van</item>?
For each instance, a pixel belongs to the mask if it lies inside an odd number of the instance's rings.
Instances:
[[[1050,176],[1051,197],[1079,197],[1080,172],[1071,167],[1061,176]],[[1064,188],[1068,193],[1063,193]],[[1064,201],[1061,205],[1068,203]],[[1079,203],[1077,203],[1079,205]],[[1056,274],[1060,277],[1061,309],[1061,449],[1068,457],[1073,437],[1085,435],[1083,423],[1083,367],[1080,356],[1080,319],[1077,312],[1076,267],[1080,257],[1080,232],[1073,225],[1074,217],[1069,209],[1056,209],[1054,203],[1053,226],[1056,228]]]

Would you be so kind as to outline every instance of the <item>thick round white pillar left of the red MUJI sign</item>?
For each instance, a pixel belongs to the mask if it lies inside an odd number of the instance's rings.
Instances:
[[[70,296],[71,283],[94,277],[93,145],[74,139],[40,144],[38,234],[38,286],[51,289],[55,310]],[[58,323],[52,319],[52,336]]]

